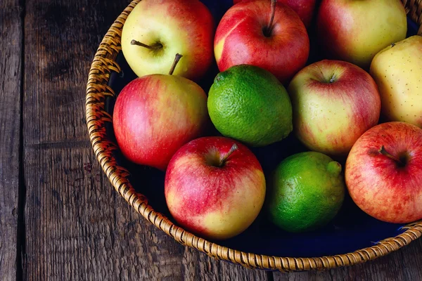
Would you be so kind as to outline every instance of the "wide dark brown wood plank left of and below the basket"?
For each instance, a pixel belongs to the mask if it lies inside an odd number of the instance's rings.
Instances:
[[[23,103],[27,280],[265,280],[152,226],[92,152],[84,90],[103,34],[129,1],[27,1]],[[83,19],[83,20],[81,20]]]

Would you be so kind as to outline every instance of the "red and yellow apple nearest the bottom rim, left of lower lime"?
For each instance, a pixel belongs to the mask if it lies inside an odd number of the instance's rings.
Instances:
[[[222,167],[212,166],[236,143]],[[216,161],[217,160],[217,161]],[[201,237],[234,237],[262,209],[265,178],[245,145],[224,137],[198,138],[172,157],[165,175],[165,198],[177,223]]]

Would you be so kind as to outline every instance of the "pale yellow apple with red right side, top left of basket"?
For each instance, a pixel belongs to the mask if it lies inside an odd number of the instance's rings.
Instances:
[[[180,53],[174,74],[198,80],[212,63],[214,28],[210,11],[198,0],[143,0],[123,26],[124,58],[141,77],[167,74]]]

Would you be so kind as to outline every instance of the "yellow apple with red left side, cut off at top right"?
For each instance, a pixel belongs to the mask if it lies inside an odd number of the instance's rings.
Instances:
[[[406,11],[399,0],[323,0],[317,31],[329,58],[366,69],[378,51],[406,38]]]

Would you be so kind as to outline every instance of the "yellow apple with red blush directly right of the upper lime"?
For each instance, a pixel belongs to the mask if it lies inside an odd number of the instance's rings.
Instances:
[[[300,70],[288,93],[296,136],[327,155],[347,155],[380,117],[375,81],[362,68],[340,60],[321,60]]]

